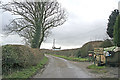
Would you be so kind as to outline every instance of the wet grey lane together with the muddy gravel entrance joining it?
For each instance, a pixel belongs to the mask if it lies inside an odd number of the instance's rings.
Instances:
[[[74,62],[46,55],[49,64],[33,78],[117,78],[117,68],[106,68],[101,72],[87,69],[92,62]]]

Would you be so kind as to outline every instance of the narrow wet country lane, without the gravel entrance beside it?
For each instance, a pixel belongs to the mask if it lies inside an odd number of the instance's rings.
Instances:
[[[34,78],[92,78],[85,68],[80,67],[83,64],[79,62],[68,61],[51,55],[46,56],[49,58],[49,64],[42,73],[37,73]]]

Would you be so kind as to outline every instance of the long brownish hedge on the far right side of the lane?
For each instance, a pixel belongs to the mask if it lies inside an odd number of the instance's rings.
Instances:
[[[53,51],[53,50],[41,50],[41,53],[50,53],[50,54],[56,54],[56,55],[62,55],[66,57],[88,57],[88,51],[93,51],[95,47],[99,47],[101,45],[102,41],[91,41],[86,44],[84,44],[81,48],[77,49],[67,49],[67,50],[59,50],[59,51]]]

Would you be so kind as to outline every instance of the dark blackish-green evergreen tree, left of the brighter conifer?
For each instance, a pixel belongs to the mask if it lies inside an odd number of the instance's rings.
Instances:
[[[114,25],[118,15],[119,15],[119,11],[115,9],[114,11],[112,11],[111,15],[109,16],[107,34],[109,35],[110,38],[113,38]]]

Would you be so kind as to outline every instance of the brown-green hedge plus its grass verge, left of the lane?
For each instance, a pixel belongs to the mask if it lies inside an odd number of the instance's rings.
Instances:
[[[24,45],[2,46],[3,78],[29,78],[43,68],[47,61],[39,49]]]

